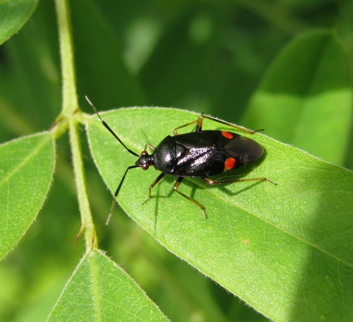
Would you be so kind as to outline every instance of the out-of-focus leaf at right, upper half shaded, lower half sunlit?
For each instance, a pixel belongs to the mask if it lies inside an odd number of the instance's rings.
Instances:
[[[328,32],[292,40],[268,69],[244,117],[276,139],[342,165],[353,115],[349,60]]]

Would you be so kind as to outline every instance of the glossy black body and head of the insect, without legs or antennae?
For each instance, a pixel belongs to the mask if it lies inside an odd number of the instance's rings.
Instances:
[[[136,165],[150,165],[177,177],[207,178],[239,168],[262,154],[262,146],[250,138],[232,132],[200,130],[168,135],[152,154],[141,155]]]

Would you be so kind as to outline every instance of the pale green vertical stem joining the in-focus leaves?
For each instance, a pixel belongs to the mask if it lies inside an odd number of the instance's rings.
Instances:
[[[86,250],[98,247],[96,231],[86,191],[85,169],[77,120],[81,111],[77,102],[75,64],[72,46],[70,12],[67,0],[55,0],[63,78],[63,107],[57,119],[56,135],[69,126],[70,145],[74,165],[76,189],[81,213],[82,226],[78,236],[85,232]],[[62,130],[60,130],[62,128]],[[56,136],[55,135],[55,136]]]

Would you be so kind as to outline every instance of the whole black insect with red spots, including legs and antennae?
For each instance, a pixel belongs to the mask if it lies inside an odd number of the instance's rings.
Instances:
[[[151,144],[147,143],[145,145],[145,149],[139,155],[129,149],[121,141],[121,139],[117,137],[117,135],[113,132],[109,125],[106,124],[99,116],[96,108],[93,106],[91,101],[87,97],[86,99],[88,103],[92,106],[94,112],[98,115],[103,125],[108,129],[108,131],[121,144],[123,144],[123,146],[131,154],[138,157],[138,160],[135,162],[135,165],[130,166],[126,169],[125,174],[114,193],[114,199],[112,202],[111,210],[113,209],[113,206],[115,204],[115,198],[119,194],[120,188],[122,187],[127,172],[133,168],[142,168],[143,170],[147,170],[150,166],[153,166],[155,169],[161,171],[161,174],[149,186],[149,192],[146,201],[151,198],[152,188],[164,177],[165,174],[173,175],[178,177],[177,181],[174,184],[174,190],[181,194],[183,197],[192,201],[198,207],[200,207],[204,212],[206,218],[206,209],[197,201],[191,199],[179,190],[179,186],[185,177],[201,177],[210,185],[243,181],[268,181],[272,184],[275,184],[267,178],[252,178],[224,181],[215,181],[209,178],[210,176],[217,175],[231,169],[239,168],[243,165],[246,165],[250,162],[259,159],[262,156],[264,150],[262,146],[256,141],[233,132],[202,130],[203,119],[209,119],[251,134],[262,130],[251,131],[201,114],[197,120],[175,128],[173,131],[174,135],[166,136],[155,148]],[[179,129],[194,123],[196,123],[195,132],[178,134]],[[147,147],[152,150],[151,154],[146,151]],[[111,211],[109,217],[110,215]]]

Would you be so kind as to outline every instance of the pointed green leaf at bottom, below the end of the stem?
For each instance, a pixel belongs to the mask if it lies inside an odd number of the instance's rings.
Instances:
[[[168,321],[136,282],[100,251],[85,254],[47,321]]]

